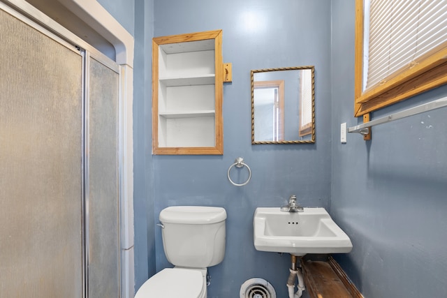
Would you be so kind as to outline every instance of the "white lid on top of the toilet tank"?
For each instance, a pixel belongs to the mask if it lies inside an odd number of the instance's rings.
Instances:
[[[172,206],[160,212],[162,223],[207,224],[225,221],[226,211],[222,207]]]

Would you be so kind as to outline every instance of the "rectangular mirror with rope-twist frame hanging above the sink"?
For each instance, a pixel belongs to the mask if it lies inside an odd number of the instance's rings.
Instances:
[[[314,66],[251,70],[251,144],[315,142]]]

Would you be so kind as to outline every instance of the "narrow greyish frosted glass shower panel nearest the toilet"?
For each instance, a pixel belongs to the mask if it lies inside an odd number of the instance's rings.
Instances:
[[[87,58],[86,205],[89,298],[119,297],[119,74]]]

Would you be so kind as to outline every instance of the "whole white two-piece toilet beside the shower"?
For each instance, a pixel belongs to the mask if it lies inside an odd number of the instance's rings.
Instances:
[[[165,255],[175,267],[149,278],[135,298],[206,298],[207,267],[225,255],[225,209],[174,206],[159,219]]]

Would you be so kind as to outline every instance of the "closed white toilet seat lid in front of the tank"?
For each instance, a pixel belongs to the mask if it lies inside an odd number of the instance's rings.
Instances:
[[[135,298],[201,298],[204,287],[200,271],[166,268],[143,283]]]

